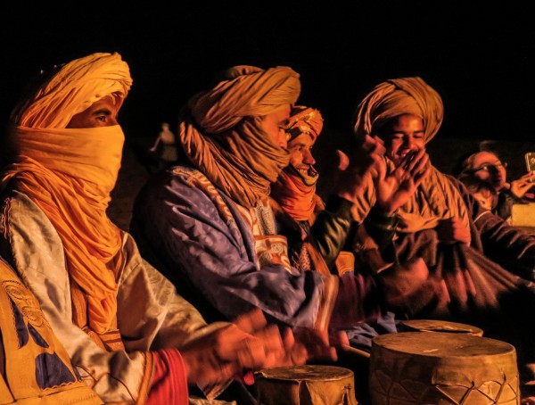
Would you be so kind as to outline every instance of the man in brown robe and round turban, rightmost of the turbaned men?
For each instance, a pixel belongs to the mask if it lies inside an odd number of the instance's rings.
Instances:
[[[390,171],[401,159],[425,150],[440,129],[440,95],[418,77],[390,79],[374,87],[358,104],[358,138],[380,136]],[[420,151],[420,152],[419,152]],[[370,183],[361,195],[357,219],[368,215],[376,197]],[[415,318],[449,318],[480,326],[485,335],[513,343],[523,381],[535,380],[531,337],[535,316],[519,308],[535,304],[535,237],[510,227],[485,210],[456,178],[431,166],[430,174],[406,201],[392,206],[384,229],[393,232],[392,250],[403,262],[420,257],[449,292]],[[527,317],[527,318],[526,318]],[[524,388],[527,385],[524,385]]]

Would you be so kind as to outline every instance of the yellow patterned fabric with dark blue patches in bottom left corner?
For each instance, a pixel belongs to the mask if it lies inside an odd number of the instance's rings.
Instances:
[[[0,402],[102,404],[70,364],[35,296],[1,258],[0,285]]]

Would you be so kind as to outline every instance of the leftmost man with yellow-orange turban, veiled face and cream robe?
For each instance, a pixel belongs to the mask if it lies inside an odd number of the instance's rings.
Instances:
[[[117,115],[131,85],[119,54],[90,54],[21,99],[0,182],[0,252],[102,401],[185,404],[195,385],[211,399],[244,370],[286,364],[292,336],[283,342],[259,311],[207,325],[107,217],[124,143]],[[45,366],[70,372],[55,360]]]

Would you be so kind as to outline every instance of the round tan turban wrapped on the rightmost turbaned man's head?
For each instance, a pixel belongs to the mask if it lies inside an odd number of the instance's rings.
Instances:
[[[424,121],[425,142],[429,142],[442,124],[442,99],[418,77],[386,80],[358,104],[355,134],[358,137],[377,135],[374,130],[401,114],[420,117]]]

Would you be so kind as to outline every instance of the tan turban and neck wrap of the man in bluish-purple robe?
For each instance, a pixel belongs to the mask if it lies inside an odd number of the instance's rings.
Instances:
[[[261,129],[261,120],[299,95],[299,74],[289,67],[236,66],[216,87],[190,99],[178,140],[214,185],[253,207],[288,164],[287,151]]]

